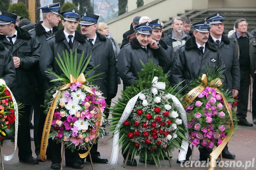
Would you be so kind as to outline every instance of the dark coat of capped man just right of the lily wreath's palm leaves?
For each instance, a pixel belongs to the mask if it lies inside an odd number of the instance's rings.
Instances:
[[[113,50],[112,42],[108,40],[104,35],[96,32],[97,38],[92,47],[92,59],[95,66],[100,64],[96,68],[95,74],[104,73],[96,78],[102,78],[96,80],[95,83],[100,87],[103,96],[108,99],[114,98],[117,93],[117,69],[115,52]]]

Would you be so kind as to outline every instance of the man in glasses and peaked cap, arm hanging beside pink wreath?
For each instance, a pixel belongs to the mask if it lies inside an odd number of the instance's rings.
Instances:
[[[215,45],[219,50],[226,66],[225,78],[227,83],[224,84],[223,89],[229,89],[229,95],[236,97],[238,90],[240,90],[240,69],[238,60],[238,49],[234,41],[230,40],[224,32],[224,16],[220,13],[215,13],[207,18],[210,22],[210,36],[209,41]],[[226,159],[234,159],[235,154],[228,150],[228,144],[222,151],[222,157]]]

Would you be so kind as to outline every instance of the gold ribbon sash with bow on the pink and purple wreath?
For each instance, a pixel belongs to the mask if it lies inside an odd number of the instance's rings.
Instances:
[[[201,81],[203,82],[203,84],[205,86],[207,86],[207,76],[206,74],[203,74],[201,77]],[[219,78],[212,80],[209,83],[209,87],[216,87],[216,86],[222,86],[222,82]],[[195,88],[193,88],[192,90],[190,90],[190,92],[188,92],[188,94],[185,96],[184,98],[184,108],[187,108],[195,99],[196,97],[203,92],[205,89],[205,87],[203,85],[199,85]],[[225,145],[228,143],[228,141],[230,140],[230,137],[233,135],[234,132],[234,125],[233,125],[233,119],[232,119],[232,111],[229,107],[229,103],[226,101],[226,98],[224,97],[223,93],[218,89],[216,89],[216,93],[220,94],[223,98],[223,101],[225,103],[226,109],[228,110],[229,113],[229,117],[231,120],[231,126],[230,126],[230,131],[227,134],[227,136],[224,138],[224,140],[222,141],[222,144],[220,144],[214,151],[211,152],[210,154],[210,168],[209,170],[214,170],[215,169],[215,165],[216,165],[216,159],[219,157],[220,153],[222,152],[222,150],[224,149]]]

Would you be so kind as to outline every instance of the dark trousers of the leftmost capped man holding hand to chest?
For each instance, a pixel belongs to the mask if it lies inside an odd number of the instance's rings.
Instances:
[[[30,140],[30,108],[25,106],[19,109],[19,125],[18,125],[18,156],[19,159],[24,160],[32,156],[31,140]]]

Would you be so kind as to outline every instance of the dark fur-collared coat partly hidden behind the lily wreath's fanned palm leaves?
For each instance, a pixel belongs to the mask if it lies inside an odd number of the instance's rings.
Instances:
[[[62,70],[60,69],[60,67],[56,62],[55,57],[58,58],[58,54],[59,54],[62,60],[64,61],[63,51],[65,52],[66,50],[70,55],[70,46],[68,41],[65,38],[65,34],[63,31],[64,29],[58,30],[55,35],[46,39],[46,42],[42,46],[43,50],[41,51],[39,66],[40,66],[41,74],[46,80],[46,89],[50,88],[52,85],[57,83],[57,82],[50,82],[51,80],[56,79],[56,77],[46,72],[51,70],[58,75],[63,74]],[[77,31],[75,32],[75,37],[73,40],[73,48],[72,48],[73,57],[75,56],[76,50],[77,50],[77,66],[83,52],[84,52],[84,59],[87,55],[89,57],[92,53],[90,43],[86,41],[84,37]],[[95,65],[93,60],[90,60],[88,67],[85,70],[85,73],[87,73],[89,70],[91,70],[94,67]],[[95,72],[91,72],[89,76],[94,74]]]

